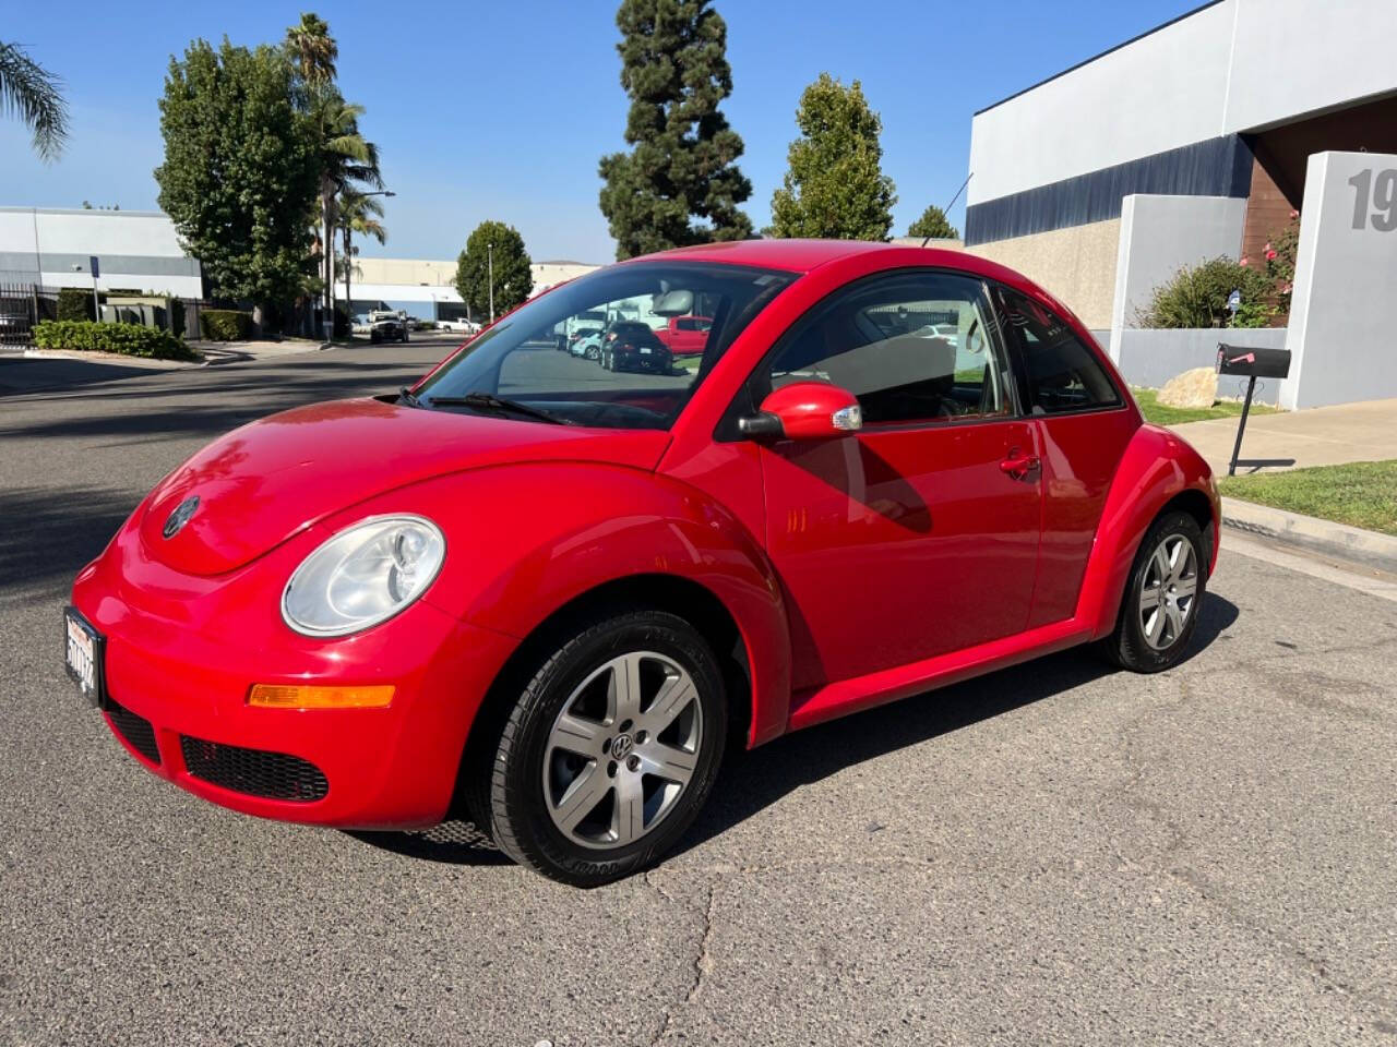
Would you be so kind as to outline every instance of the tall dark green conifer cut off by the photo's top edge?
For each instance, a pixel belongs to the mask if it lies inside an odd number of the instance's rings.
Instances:
[[[623,0],[616,27],[633,147],[599,169],[616,258],[750,236],[742,138],[718,109],[732,94],[722,17],[708,0]]]

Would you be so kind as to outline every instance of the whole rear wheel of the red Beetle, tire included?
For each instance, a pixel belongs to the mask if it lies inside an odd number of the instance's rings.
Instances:
[[[1102,641],[1106,658],[1136,673],[1183,660],[1199,624],[1207,564],[1199,522],[1187,512],[1160,517],[1136,553],[1115,632]]]

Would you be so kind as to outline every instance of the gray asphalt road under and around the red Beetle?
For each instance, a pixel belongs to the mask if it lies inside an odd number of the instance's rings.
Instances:
[[[592,892],[144,772],[63,674],[74,572],[210,437],[441,352],[0,398],[0,1043],[1397,1040],[1397,603],[1235,549],[1179,669],[1069,652],[740,754]]]

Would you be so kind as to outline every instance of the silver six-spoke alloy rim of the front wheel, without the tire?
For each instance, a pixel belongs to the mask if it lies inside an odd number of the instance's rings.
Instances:
[[[672,659],[633,651],[563,702],[543,751],[543,800],[574,843],[634,843],[675,810],[698,764],[703,706]]]

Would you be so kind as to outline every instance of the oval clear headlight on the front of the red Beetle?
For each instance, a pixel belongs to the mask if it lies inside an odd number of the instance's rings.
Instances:
[[[426,592],[446,539],[422,517],[370,517],[307,556],[286,582],[281,616],[307,637],[342,637],[390,618]]]

